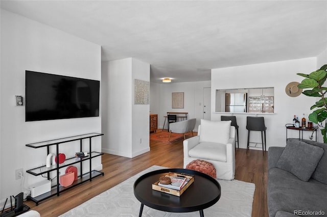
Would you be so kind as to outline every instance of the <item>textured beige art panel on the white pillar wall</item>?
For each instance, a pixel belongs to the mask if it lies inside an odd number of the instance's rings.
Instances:
[[[149,104],[150,82],[135,79],[134,81],[134,104]]]

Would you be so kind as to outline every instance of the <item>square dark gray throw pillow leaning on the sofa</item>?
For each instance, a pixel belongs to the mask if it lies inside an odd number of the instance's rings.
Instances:
[[[323,154],[323,149],[302,141],[288,140],[276,167],[286,170],[302,181],[308,181]]]

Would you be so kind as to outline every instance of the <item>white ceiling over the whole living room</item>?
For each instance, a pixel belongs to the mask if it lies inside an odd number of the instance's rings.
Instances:
[[[135,58],[151,82],[211,79],[211,69],[316,57],[327,1],[1,1],[1,8]],[[264,72],[263,72],[264,73]]]

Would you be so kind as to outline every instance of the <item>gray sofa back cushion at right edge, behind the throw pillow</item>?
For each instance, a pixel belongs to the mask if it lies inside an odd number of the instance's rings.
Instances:
[[[303,140],[303,142],[323,148],[324,153],[320,161],[318,162],[315,172],[313,172],[311,177],[317,181],[327,184],[327,144],[318,143],[310,140]]]

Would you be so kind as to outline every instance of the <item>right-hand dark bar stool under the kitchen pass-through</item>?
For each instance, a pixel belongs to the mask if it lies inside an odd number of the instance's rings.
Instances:
[[[266,125],[264,117],[246,117],[246,129],[247,133],[247,147],[246,151],[249,150],[249,141],[250,141],[250,131],[261,131],[261,141],[262,141],[262,151],[264,153],[264,146],[266,151]],[[263,133],[265,134],[265,143]]]

